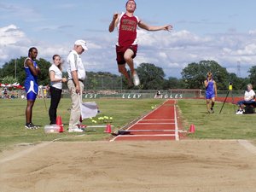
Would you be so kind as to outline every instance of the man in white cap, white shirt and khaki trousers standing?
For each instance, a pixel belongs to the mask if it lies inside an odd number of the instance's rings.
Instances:
[[[84,40],[77,40],[74,43],[73,50],[67,55],[67,87],[71,93],[72,108],[69,119],[68,132],[82,132],[79,128],[79,119],[81,115],[80,102],[84,90],[85,69],[82,62],[82,53],[88,50]]]

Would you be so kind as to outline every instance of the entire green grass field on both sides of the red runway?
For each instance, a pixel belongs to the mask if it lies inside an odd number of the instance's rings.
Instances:
[[[103,131],[105,128],[87,129],[83,137],[79,134],[67,133],[67,123],[70,112],[70,99],[62,99],[58,114],[61,115],[62,123],[66,132],[61,134],[45,134],[44,125],[49,124],[48,111],[44,108],[44,100],[38,99],[33,108],[33,123],[41,125],[37,131],[26,130],[25,107],[26,100],[0,100],[0,150],[13,148],[18,143],[40,143],[52,141],[57,138],[65,138],[65,141],[98,141],[107,140],[109,134]],[[84,101],[85,102],[85,101]],[[119,129],[124,125],[148,113],[151,106],[159,105],[163,100],[121,100],[121,99],[99,99],[96,100],[101,113],[99,116],[112,116],[113,129]],[[49,107],[49,99],[46,101]],[[255,143],[256,115],[236,115],[234,106],[226,103],[223,112],[219,114],[222,103],[218,102],[214,114],[206,113],[204,100],[179,100],[178,106],[183,116],[183,128],[189,129],[189,125],[195,125],[195,134],[190,138],[213,138],[213,139],[249,139]],[[98,121],[98,120],[97,120]],[[86,125],[104,125],[101,122],[93,124],[90,119],[84,121]]]

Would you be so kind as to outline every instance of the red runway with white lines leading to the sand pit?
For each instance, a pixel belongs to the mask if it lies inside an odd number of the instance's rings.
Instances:
[[[177,114],[176,101],[167,100],[111,141],[178,141],[183,131]]]

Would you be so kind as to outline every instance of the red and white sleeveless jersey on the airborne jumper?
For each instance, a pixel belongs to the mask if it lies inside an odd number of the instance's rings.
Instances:
[[[129,17],[122,13],[118,22],[119,39],[117,45],[120,47],[129,47],[137,44],[137,16]]]

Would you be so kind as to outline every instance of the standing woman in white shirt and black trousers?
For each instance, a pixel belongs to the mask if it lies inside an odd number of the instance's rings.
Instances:
[[[50,125],[56,124],[57,108],[61,101],[62,83],[67,82],[66,78],[62,78],[61,56],[53,55],[53,64],[49,67],[50,79],[50,106],[49,106],[49,121]]]

